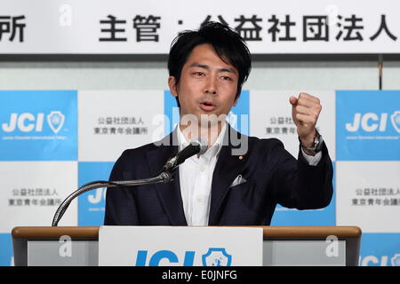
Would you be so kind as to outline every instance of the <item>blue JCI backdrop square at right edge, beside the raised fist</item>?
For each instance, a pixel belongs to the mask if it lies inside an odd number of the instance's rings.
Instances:
[[[337,161],[398,161],[399,91],[336,92]]]

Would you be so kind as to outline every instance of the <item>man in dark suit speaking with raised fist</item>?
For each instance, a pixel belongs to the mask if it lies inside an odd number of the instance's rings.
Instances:
[[[330,203],[332,162],[316,131],[319,99],[306,93],[289,99],[300,140],[296,160],[278,139],[247,137],[225,120],[251,69],[236,32],[209,23],[181,33],[168,68],[180,125],[158,143],[124,151],[110,180],[154,177],[198,136],[208,149],[181,164],[170,183],[108,189],[105,225],[269,225],[277,203],[296,209]]]

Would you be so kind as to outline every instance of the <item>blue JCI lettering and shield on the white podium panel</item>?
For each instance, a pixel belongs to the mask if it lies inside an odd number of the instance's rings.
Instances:
[[[148,250],[138,250],[136,256],[136,266],[159,266],[160,263],[167,261],[165,264],[181,264],[183,266],[193,266],[195,263],[196,251],[186,251],[183,259],[171,250],[158,250],[153,256],[148,256]],[[202,255],[203,266],[230,266],[232,264],[232,256],[229,255],[225,248],[208,248],[208,251]]]

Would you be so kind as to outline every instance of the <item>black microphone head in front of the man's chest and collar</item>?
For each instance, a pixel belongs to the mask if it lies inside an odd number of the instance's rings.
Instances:
[[[172,156],[163,167],[164,171],[173,170],[178,167],[186,159],[190,158],[195,154],[204,154],[207,151],[208,144],[207,140],[202,137],[193,138],[190,144],[181,150],[178,154]]]

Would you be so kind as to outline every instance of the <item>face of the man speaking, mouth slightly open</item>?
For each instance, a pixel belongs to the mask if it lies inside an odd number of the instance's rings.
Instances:
[[[172,95],[180,100],[180,117],[228,114],[236,106],[238,71],[224,62],[211,44],[197,45],[182,67],[180,82],[168,78]]]

